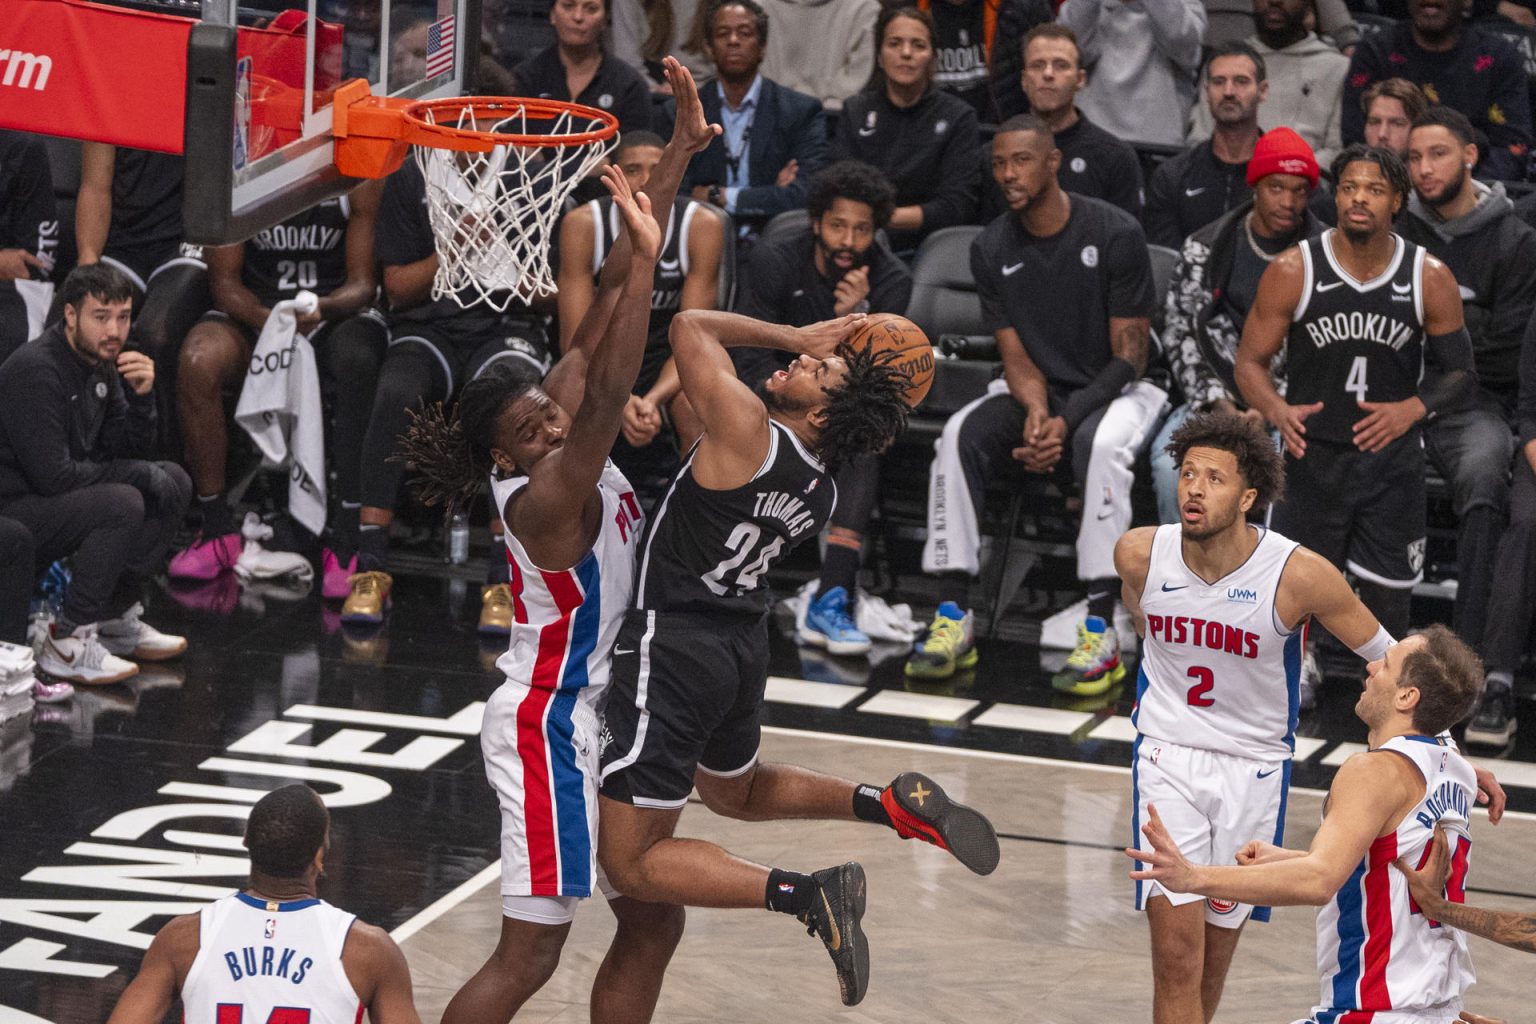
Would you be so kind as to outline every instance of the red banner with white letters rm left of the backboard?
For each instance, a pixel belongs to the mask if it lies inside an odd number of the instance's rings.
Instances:
[[[0,0],[0,127],[180,154],[192,20]]]

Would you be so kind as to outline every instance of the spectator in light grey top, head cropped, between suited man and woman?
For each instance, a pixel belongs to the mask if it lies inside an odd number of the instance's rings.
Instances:
[[[869,81],[880,0],[762,0],[762,6],[774,25],[763,48],[763,69],[774,81],[833,112]]]

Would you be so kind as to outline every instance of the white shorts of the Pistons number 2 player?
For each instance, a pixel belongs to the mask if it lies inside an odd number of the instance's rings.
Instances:
[[[1141,735],[1132,752],[1130,786],[1135,800],[1132,844],[1141,849],[1147,804],[1157,804],[1169,835],[1197,864],[1235,864],[1238,851],[1250,840],[1279,846],[1286,834],[1289,760],[1256,761]],[[1206,900],[1190,892],[1170,892],[1155,881],[1138,881],[1137,909],[1146,910],[1147,900],[1155,895],[1177,907]],[[1269,907],[1206,900],[1207,924],[1243,927],[1249,917],[1267,921]]]

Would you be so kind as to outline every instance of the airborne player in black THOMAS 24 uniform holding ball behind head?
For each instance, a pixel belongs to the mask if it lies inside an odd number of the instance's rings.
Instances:
[[[803,875],[673,832],[697,786],[728,817],[876,821],[937,843],[980,874],[997,864],[991,823],[923,775],[882,789],[757,760],[768,674],[763,574],[831,516],[828,464],[882,450],[906,416],[905,379],[869,350],[842,344],[860,321],[783,327],[703,310],[673,319],[673,355],[703,436],[647,527],[636,608],[613,651],[599,854],[625,895],[799,917],[826,944],[848,1006],[863,998],[869,967],[857,863]],[[753,393],[736,378],[733,345],[799,358]]]

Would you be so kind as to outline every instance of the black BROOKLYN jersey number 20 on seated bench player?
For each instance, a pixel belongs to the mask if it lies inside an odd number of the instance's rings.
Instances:
[[[246,241],[240,279],[263,306],[300,292],[326,296],[347,281],[347,197],[326,200]]]

